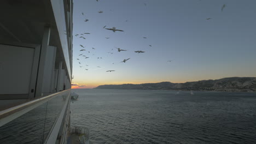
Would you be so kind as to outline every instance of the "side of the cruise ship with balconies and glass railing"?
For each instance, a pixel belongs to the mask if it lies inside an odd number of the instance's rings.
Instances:
[[[73,1],[2,0],[0,15],[0,143],[67,143]]]

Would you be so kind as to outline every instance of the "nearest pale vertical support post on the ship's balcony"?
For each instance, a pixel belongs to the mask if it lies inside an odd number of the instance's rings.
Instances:
[[[38,75],[37,75],[36,97],[42,96],[43,83],[44,83],[44,69],[46,67],[45,59],[46,59],[47,47],[50,41],[50,32],[51,32],[50,26],[44,26],[44,34],[43,34],[43,40],[41,45],[39,68],[38,68]]]

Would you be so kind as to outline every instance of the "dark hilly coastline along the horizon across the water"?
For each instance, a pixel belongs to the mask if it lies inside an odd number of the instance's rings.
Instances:
[[[101,85],[96,89],[163,89],[181,91],[256,92],[256,77],[226,77],[185,83],[159,82],[142,84]]]

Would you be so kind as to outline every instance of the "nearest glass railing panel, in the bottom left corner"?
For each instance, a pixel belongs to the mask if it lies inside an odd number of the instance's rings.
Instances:
[[[42,143],[47,102],[0,127],[0,143]]]

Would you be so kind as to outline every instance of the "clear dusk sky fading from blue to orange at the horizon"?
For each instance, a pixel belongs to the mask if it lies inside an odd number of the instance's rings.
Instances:
[[[256,77],[255,0],[73,3],[73,88]]]

